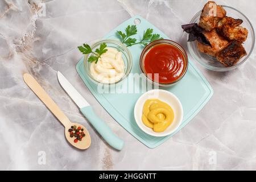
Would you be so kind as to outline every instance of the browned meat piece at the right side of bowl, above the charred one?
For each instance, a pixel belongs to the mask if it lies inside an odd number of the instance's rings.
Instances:
[[[218,22],[218,32],[228,38],[230,41],[236,40],[239,43],[245,42],[248,35],[248,30],[240,26],[243,23],[241,19],[224,17]]]

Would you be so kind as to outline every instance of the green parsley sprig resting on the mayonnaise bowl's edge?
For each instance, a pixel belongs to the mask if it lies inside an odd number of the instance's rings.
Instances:
[[[101,55],[108,51],[108,49],[106,49],[106,43],[102,43],[100,45],[100,48],[97,48],[95,51],[93,51],[88,44],[82,44],[82,46],[79,46],[77,48],[79,48],[79,51],[81,51],[82,54],[84,55],[88,55],[89,53],[92,53],[93,55],[91,55],[88,58],[88,61],[90,63],[92,63],[93,61],[96,61],[95,62],[96,64],[98,63],[98,59],[101,57]]]

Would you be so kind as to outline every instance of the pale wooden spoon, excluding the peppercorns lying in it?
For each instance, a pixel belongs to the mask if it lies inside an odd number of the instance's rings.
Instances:
[[[79,148],[81,150],[85,150],[86,148],[90,147],[90,135],[86,128],[78,123],[72,123],[69,121],[68,117],[63,113],[63,111],[60,110],[60,108],[56,105],[56,103],[51,99],[51,97],[48,96],[46,91],[42,88],[42,86],[39,85],[39,83],[35,80],[34,77],[32,77],[30,74],[25,73],[23,75],[24,82],[30,87],[30,89],[40,98],[40,100],[48,107],[48,109],[56,116],[57,119],[63,124],[65,127],[65,137],[68,140],[69,143],[72,144],[72,146]],[[76,125],[77,127],[81,127],[84,129],[85,137],[82,138],[82,140],[78,141],[77,143],[74,142],[75,137],[70,137],[70,134],[68,132],[68,129],[71,128],[71,126]]]

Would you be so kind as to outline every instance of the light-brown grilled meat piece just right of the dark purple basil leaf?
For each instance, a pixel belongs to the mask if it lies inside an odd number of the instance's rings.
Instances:
[[[215,57],[216,53],[229,43],[228,40],[217,33],[216,29],[210,32],[203,32],[203,34],[209,40],[212,47],[197,42],[197,48],[200,52],[207,53],[208,55]]]

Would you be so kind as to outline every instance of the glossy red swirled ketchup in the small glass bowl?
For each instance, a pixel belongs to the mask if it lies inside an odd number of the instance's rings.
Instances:
[[[152,74],[152,80],[160,84],[170,84],[178,80],[185,71],[183,53],[171,44],[157,44],[144,57],[144,70]],[[158,77],[154,76],[158,73]]]

